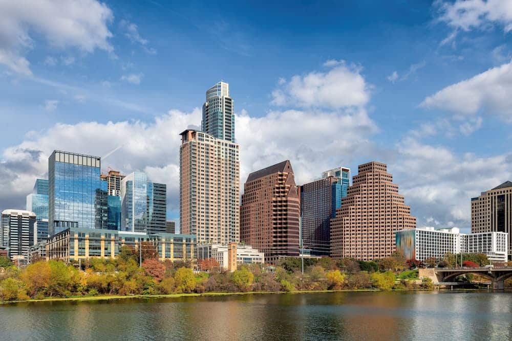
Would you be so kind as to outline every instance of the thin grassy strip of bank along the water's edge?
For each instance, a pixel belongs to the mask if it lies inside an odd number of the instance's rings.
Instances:
[[[456,291],[479,291],[482,289],[457,289]],[[155,295],[96,295],[96,296],[74,296],[74,297],[49,297],[44,299],[29,299],[23,301],[0,301],[0,305],[13,303],[33,303],[33,302],[65,302],[65,301],[110,301],[124,299],[167,299],[183,297],[208,297],[208,296],[229,296],[229,295],[253,295],[253,294],[308,294],[308,293],[330,293],[330,292],[394,292],[394,291],[434,291],[433,289],[353,289],[353,290],[293,290],[293,291],[248,291],[248,292],[204,292],[204,293],[173,293],[173,294],[155,294]],[[436,290],[437,291],[437,290]],[[441,290],[451,291],[451,290]]]

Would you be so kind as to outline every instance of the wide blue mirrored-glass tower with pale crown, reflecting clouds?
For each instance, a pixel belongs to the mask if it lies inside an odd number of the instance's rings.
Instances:
[[[107,183],[98,156],[55,150],[48,159],[49,234],[68,228],[106,229]]]

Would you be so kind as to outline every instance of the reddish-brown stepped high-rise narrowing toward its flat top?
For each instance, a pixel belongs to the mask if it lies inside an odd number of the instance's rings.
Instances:
[[[395,231],[416,228],[386,164],[359,165],[342,207],[331,219],[331,257],[374,260],[395,252]]]

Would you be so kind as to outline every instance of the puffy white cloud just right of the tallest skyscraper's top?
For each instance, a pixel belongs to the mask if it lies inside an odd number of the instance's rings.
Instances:
[[[339,109],[362,107],[370,100],[370,86],[360,74],[361,68],[345,61],[328,60],[328,72],[295,75],[272,92],[272,104],[295,107]]]

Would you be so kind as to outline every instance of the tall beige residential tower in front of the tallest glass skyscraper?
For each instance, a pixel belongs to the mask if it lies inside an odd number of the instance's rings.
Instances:
[[[181,133],[180,231],[198,242],[240,240],[240,146],[202,131]]]

